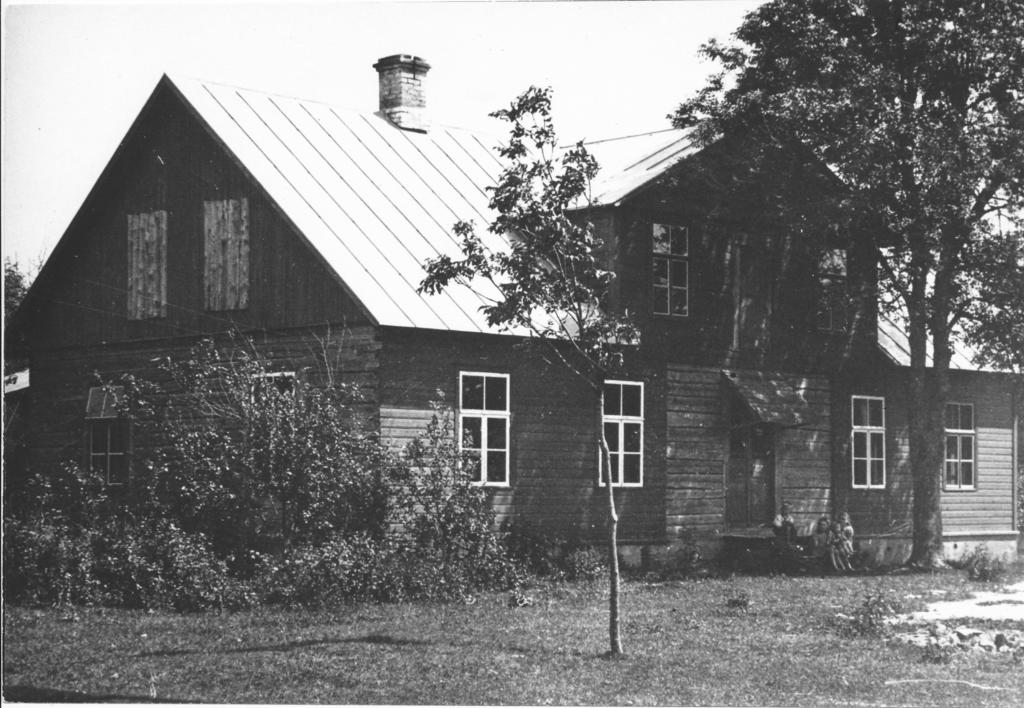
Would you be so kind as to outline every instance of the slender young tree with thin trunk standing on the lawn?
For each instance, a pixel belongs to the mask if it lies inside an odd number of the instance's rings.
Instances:
[[[487,298],[482,310],[493,327],[528,335],[527,342],[545,347],[593,391],[608,502],[609,654],[620,655],[618,516],[602,411],[604,380],[621,366],[624,347],[637,332],[628,318],[604,306],[613,274],[586,218],[597,163],[582,144],[558,149],[550,89],[530,87],[492,116],[510,126],[509,141],[499,149],[507,166],[490,188],[497,216],[484,234],[472,222],[457,223],[461,253],[428,261],[420,289],[475,289]]]

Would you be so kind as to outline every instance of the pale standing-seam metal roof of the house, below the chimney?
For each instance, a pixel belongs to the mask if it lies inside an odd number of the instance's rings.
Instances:
[[[401,130],[359,113],[195,79],[167,77],[380,325],[495,332],[489,283],[417,292],[428,258],[459,255],[453,226],[486,231],[502,169],[499,139],[460,128]],[[598,204],[622,201],[693,151],[678,130],[588,144],[602,169]],[[510,334],[525,331],[510,330]]]

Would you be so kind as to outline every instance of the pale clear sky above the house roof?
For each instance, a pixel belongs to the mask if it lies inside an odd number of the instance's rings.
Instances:
[[[432,67],[438,124],[554,90],[562,142],[669,127],[714,71],[697,50],[759,2],[3,2],[4,257],[35,270],[164,73],[368,112],[372,65]]]

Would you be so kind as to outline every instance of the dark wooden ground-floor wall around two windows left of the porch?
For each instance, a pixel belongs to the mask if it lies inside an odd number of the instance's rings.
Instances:
[[[597,402],[555,361],[513,346],[511,337],[385,328],[381,432],[396,449],[422,432],[431,402],[458,406],[460,371],[508,374],[510,486],[487,488],[501,522],[601,542],[605,489],[598,481]],[[620,538],[657,542],[665,532],[664,386],[644,371],[644,485],[617,488]]]

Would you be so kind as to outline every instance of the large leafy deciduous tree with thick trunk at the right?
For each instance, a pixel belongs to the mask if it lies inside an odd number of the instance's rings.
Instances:
[[[1022,204],[1024,3],[776,0],[734,39],[702,47],[722,71],[674,123],[705,142],[799,144],[837,176],[829,199],[873,240],[882,286],[905,311],[911,563],[941,563],[952,341],[992,215]]]

